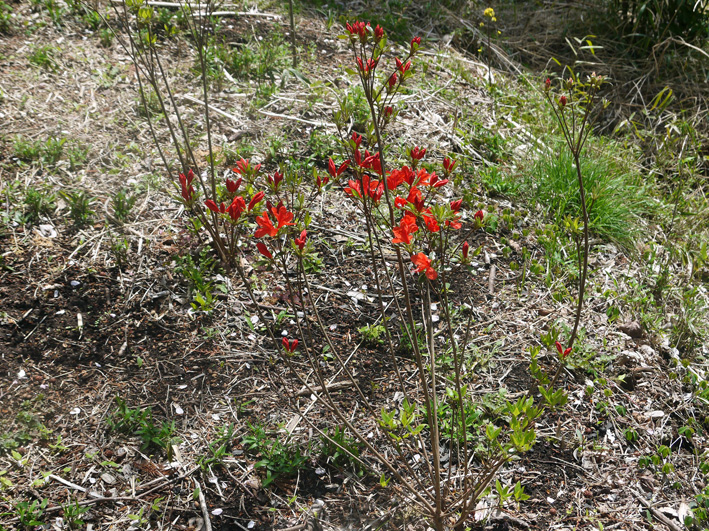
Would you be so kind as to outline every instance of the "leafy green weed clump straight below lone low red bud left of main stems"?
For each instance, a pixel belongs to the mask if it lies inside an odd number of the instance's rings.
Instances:
[[[249,423],[249,431],[251,433],[241,442],[249,452],[261,457],[254,468],[266,469],[266,477],[262,482],[264,487],[280,477],[294,476],[305,464],[307,457],[301,454],[300,448],[292,441],[281,442],[267,434],[260,424]]]

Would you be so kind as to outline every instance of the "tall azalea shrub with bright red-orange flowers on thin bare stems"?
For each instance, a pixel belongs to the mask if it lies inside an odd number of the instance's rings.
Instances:
[[[195,26],[191,32],[202,57],[204,29]],[[468,393],[472,373],[465,359],[472,348],[473,312],[470,304],[451,300],[450,286],[460,278],[456,275],[466,274],[480,251],[476,232],[484,228],[486,216],[482,210],[469,211],[462,193],[453,190],[452,176],[458,166],[454,156],[432,160],[426,147],[412,145],[399,159],[389,136],[400,112],[401,90],[415,75],[421,39],[412,39],[404,54],[390,55],[380,26],[348,23],[341,37],[352,51],[347,71],[362,89],[369,117],[364,124],[354,120],[351,106],[342,98],[333,113],[340,150],[323,164],[326,170],[313,168],[303,174],[284,166],[266,171],[241,159],[219,176],[205,104],[210,149],[206,169],[197,167],[186,129],[181,128],[184,137],[179,141],[180,128],[166,120],[181,167],[173,177],[175,198],[194,231],[200,238],[206,236],[225,270],[246,288],[252,311],[258,313],[274,350],[290,369],[293,380],[286,386],[305,387],[326,413],[318,416],[327,419],[326,425],[305,414],[303,421],[329,445],[349,455],[359,470],[369,470],[382,486],[397,490],[436,530],[460,528],[479,499],[491,491],[505,463],[533,446],[534,422],[543,410],[530,393],[506,403],[501,415],[486,417]],[[154,46],[149,35],[141,42]],[[156,72],[162,70],[159,63],[148,62],[159,61],[159,54],[155,49],[143,54],[136,39],[131,38],[131,43],[139,79],[160,94],[166,81]],[[205,102],[206,87],[204,83]],[[166,106],[162,108],[169,114]],[[175,122],[181,124],[179,108],[174,106],[173,111]],[[157,135],[154,138],[157,142]],[[170,170],[167,151],[160,144],[158,148]],[[324,238],[314,228],[311,212],[326,194],[334,196],[335,202],[349,201],[360,221],[364,254],[346,259],[354,260],[356,267],[364,259],[371,272],[370,293],[378,315],[369,324],[377,327],[376,348],[396,378],[396,385],[386,389],[360,386],[357,373],[366,354],[343,352],[317,297],[320,288],[312,283],[310,264],[316,261],[317,244]],[[267,268],[275,283],[283,286],[284,300],[294,316],[287,337],[276,328],[278,320],[266,315],[259,304],[254,277],[262,274],[252,275],[252,266],[260,272]],[[472,281],[469,275],[465,278]],[[571,352],[571,343],[573,338],[567,346],[556,345],[561,364]],[[565,397],[553,389],[561,366],[550,380],[536,365],[536,357],[533,363],[546,404],[563,405]],[[329,384],[335,377],[351,389],[346,398],[331,392]],[[298,408],[297,401],[293,407]],[[333,424],[345,435],[328,435],[333,432],[327,427]],[[354,446],[342,444],[345,436],[357,441],[356,452]],[[518,501],[524,498],[521,485],[514,492]]]

